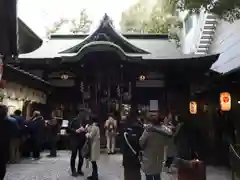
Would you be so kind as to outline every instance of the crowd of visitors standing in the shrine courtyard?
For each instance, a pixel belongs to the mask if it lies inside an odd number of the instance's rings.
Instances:
[[[43,144],[43,136],[46,127],[50,130],[50,154],[49,157],[57,157],[57,136],[60,131],[58,119],[53,117],[50,121],[45,121],[39,111],[34,111],[30,120],[25,120],[21,116],[21,111],[15,111],[14,115],[8,116],[6,106],[0,105],[1,119],[1,148],[0,155],[0,179],[3,179],[8,162],[19,160],[20,152],[28,154],[33,160],[40,158]],[[123,156],[124,178],[125,180],[141,179],[141,170],[145,173],[147,180],[160,180],[160,173],[164,160],[164,152],[168,147],[168,158],[165,166],[170,168],[172,163],[178,163],[181,158],[187,158],[186,152],[177,153],[176,134],[179,134],[182,125],[171,123],[172,117],[169,115],[165,119],[158,115],[149,116],[145,123],[139,120],[136,112],[131,112],[126,119],[123,131],[118,132],[117,120],[110,114],[105,122],[105,135],[107,140],[108,154],[115,153],[116,136],[121,136],[121,153]],[[169,126],[170,125],[170,126]],[[84,159],[91,162],[92,174],[88,180],[98,180],[98,164],[100,157],[100,127],[98,117],[88,114],[81,109],[76,118],[72,119],[67,128],[71,141],[70,167],[72,176],[83,176],[82,169]],[[27,151],[22,148],[22,146]],[[182,146],[182,145],[181,145]],[[75,167],[78,155],[78,166]],[[179,157],[179,158],[175,158]],[[191,159],[191,158],[189,158]],[[190,162],[190,165],[191,161]]]

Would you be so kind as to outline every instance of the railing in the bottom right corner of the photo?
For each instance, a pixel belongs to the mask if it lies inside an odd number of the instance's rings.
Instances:
[[[230,152],[230,163],[232,171],[232,180],[237,180],[240,178],[240,155],[239,155],[240,145],[229,146]]]

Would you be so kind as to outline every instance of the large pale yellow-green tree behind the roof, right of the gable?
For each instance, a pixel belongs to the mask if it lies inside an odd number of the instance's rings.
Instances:
[[[141,0],[123,12],[122,32],[168,34],[169,39],[174,39],[179,46],[182,22],[174,16],[176,0],[157,0],[149,15],[146,12]]]

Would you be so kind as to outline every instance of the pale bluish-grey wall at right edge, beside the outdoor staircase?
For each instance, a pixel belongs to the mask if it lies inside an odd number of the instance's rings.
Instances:
[[[240,20],[218,23],[209,53],[221,53],[212,66],[218,72],[226,73],[240,66]]]

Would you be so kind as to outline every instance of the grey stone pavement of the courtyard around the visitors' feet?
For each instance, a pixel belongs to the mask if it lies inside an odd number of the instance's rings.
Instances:
[[[5,180],[84,180],[84,177],[71,177],[69,169],[70,153],[60,151],[59,157],[47,158],[42,153],[42,159],[32,161],[25,159],[21,164],[9,165]],[[99,160],[100,180],[123,180],[121,156],[101,155]],[[84,168],[86,175],[90,174],[90,168]],[[225,169],[209,167],[207,180],[230,180],[230,173]],[[144,178],[143,178],[144,179]],[[164,180],[173,180],[173,177],[164,175]]]

